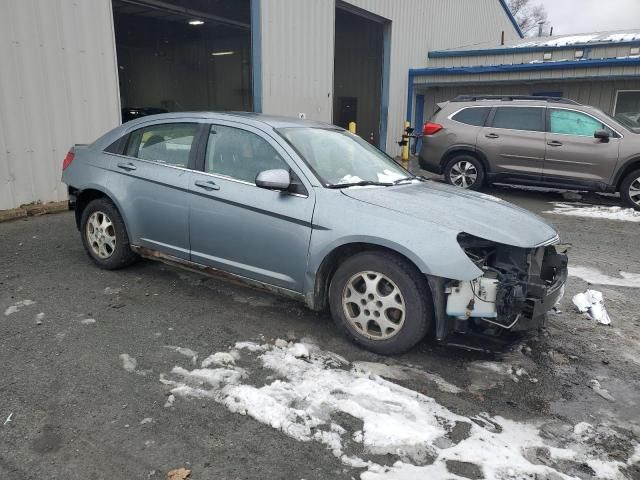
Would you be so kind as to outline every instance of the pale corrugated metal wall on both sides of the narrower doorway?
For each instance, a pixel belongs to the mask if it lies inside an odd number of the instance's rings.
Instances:
[[[387,149],[399,153],[409,68],[430,50],[494,42],[517,34],[498,0],[348,0],[392,22]],[[335,0],[262,0],[263,111],[299,112],[330,122]]]

